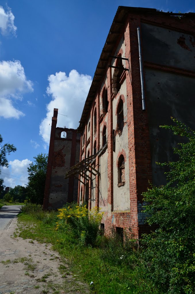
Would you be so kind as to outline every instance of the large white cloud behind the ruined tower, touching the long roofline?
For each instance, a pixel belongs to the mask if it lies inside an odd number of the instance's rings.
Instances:
[[[49,144],[54,108],[58,108],[58,113],[67,115],[66,117],[58,114],[58,127],[77,128],[79,126],[92,78],[85,74],[79,74],[73,69],[69,76],[60,71],[55,75],[50,75],[48,81],[47,94],[51,96],[52,100],[47,104],[47,115],[39,126],[39,134],[47,144]]]

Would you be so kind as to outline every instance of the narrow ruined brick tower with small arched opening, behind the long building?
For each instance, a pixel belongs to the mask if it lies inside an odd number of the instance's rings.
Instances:
[[[44,192],[44,209],[60,208],[77,201],[78,179],[65,179],[65,173],[79,162],[80,134],[77,130],[57,128],[58,109],[54,108]]]

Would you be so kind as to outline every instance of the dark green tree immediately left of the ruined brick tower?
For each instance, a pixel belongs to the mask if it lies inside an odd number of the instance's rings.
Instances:
[[[27,193],[32,203],[43,204],[48,156],[41,153],[34,159],[27,168],[29,174]]]

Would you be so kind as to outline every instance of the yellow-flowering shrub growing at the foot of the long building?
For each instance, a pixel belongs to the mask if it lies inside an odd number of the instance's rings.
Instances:
[[[58,210],[56,229],[63,229],[66,224],[71,225],[72,230],[81,245],[94,245],[99,233],[99,227],[103,213],[97,207],[88,212],[85,206],[66,206]]]

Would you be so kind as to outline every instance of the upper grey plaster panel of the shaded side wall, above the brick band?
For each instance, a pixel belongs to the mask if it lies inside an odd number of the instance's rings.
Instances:
[[[195,71],[194,36],[142,23],[141,37],[145,61]]]

